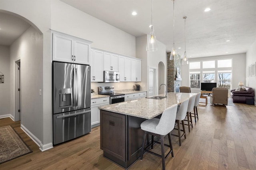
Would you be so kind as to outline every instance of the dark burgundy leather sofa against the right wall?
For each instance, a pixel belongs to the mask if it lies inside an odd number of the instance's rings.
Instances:
[[[246,103],[247,99],[254,100],[254,90],[250,87],[242,86],[230,91],[233,103]]]

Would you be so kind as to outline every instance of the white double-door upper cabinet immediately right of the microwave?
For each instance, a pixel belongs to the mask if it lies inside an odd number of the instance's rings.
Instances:
[[[120,82],[131,81],[131,59],[123,56],[119,56],[119,74]]]

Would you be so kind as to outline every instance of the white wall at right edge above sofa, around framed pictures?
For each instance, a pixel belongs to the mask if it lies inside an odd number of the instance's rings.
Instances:
[[[256,62],[256,40],[254,43],[250,46],[246,53],[246,69],[248,69],[248,66],[250,64],[253,64]],[[248,77],[248,74],[246,75],[246,86],[252,87],[254,89],[254,92],[256,90],[256,76]],[[255,96],[254,96],[255,100]]]

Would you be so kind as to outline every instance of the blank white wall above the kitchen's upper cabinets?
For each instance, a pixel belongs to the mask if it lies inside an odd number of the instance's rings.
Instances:
[[[93,41],[92,47],[136,57],[136,39],[61,1],[52,1],[52,29]]]

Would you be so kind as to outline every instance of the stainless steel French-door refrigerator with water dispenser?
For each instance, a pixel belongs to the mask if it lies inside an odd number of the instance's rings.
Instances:
[[[53,62],[53,144],[91,131],[91,71],[82,64]]]

